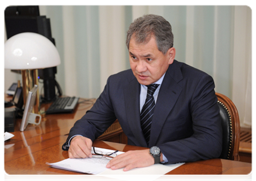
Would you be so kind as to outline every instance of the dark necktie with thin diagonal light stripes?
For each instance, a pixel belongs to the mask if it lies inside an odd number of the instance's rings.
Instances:
[[[152,123],[152,119],[154,115],[154,107],[155,107],[155,101],[154,101],[153,95],[158,86],[159,84],[150,84],[147,86],[148,92],[146,95],[146,101],[140,113],[140,124],[142,126],[142,132],[144,134],[147,144],[149,144],[151,123]]]

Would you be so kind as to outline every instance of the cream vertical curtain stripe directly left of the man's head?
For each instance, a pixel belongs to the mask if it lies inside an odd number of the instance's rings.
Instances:
[[[125,7],[123,5],[100,5],[100,88],[111,74],[125,67]]]

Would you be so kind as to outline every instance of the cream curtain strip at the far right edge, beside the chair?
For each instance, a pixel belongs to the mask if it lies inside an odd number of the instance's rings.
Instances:
[[[254,126],[254,7],[235,5],[232,94],[241,125]]]

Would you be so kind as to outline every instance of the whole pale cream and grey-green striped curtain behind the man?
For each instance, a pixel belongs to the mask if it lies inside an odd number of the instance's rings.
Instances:
[[[39,8],[51,21],[61,56],[56,80],[65,95],[99,97],[111,74],[130,68],[125,40],[131,22],[143,14],[159,14],[172,25],[176,60],[211,75],[215,91],[237,106],[241,126],[254,127],[254,5]],[[4,77],[10,74],[5,72]]]

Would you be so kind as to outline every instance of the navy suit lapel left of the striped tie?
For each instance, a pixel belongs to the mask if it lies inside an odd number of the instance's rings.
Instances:
[[[131,132],[142,147],[147,147],[140,126],[140,84],[135,77],[125,87],[124,95],[126,116]]]

